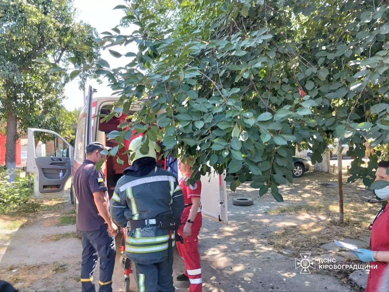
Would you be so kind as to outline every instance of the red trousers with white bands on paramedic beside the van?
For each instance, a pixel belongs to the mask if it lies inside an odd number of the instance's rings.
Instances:
[[[177,241],[176,245],[186,267],[184,274],[188,276],[189,282],[191,283],[189,291],[201,292],[203,280],[201,276],[200,254],[198,253],[198,233],[200,232],[201,225],[203,224],[203,216],[201,212],[197,213],[196,219],[192,223],[192,235],[184,237],[182,235],[183,229],[186,220],[188,219],[190,209],[191,208],[189,206],[184,209],[181,216],[181,225],[178,229],[178,234],[184,238],[184,244]]]

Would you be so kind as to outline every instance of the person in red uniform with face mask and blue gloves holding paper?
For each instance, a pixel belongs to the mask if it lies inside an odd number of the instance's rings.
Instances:
[[[375,180],[389,181],[389,175],[386,174],[388,167],[388,161],[378,163]],[[389,200],[389,186],[374,192],[380,199]],[[370,249],[359,249],[360,252],[352,253],[364,263],[370,262],[372,266],[377,265],[377,269],[370,269],[366,286],[366,292],[376,292],[381,290],[379,287],[389,268],[389,204],[381,209],[370,226]]]

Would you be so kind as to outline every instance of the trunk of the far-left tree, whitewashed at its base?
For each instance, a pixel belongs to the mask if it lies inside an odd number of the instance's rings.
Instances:
[[[7,113],[7,140],[5,142],[5,166],[9,174],[9,182],[16,179],[16,135],[18,122],[12,112]]]

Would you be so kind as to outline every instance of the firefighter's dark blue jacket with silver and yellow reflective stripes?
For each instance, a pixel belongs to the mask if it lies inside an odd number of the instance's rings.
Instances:
[[[134,163],[127,168],[117,182],[110,203],[112,220],[121,227],[126,227],[129,220],[164,215],[180,218],[184,209],[184,197],[177,178],[157,164],[149,164],[142,169],[142,165]],[[158,226],[130,229],[127,231],[126,254],[131,260],[152,264],[167,259],[169,230],[159,229]],[[172,239],[175,246],[175,232]]]

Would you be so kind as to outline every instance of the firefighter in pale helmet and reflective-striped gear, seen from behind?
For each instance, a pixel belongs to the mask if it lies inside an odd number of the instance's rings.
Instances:
[[[156,163],[155,144],[148,154],[141,145],[142,136],[130,141],[135,157],[117,182],[110,212],[117,225],[127,226],[126,255],[139,291],[174,291],[172,247],[184,197],[177,178]]]

